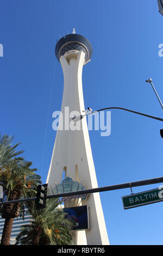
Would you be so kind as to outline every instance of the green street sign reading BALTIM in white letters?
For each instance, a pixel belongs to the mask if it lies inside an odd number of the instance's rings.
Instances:
[[[130,209],[137,206],[153,204],[163,201],[163,187],[155,188],[154,190],[147,190],[144,192],[130,194],[122,197],[123,208]]]

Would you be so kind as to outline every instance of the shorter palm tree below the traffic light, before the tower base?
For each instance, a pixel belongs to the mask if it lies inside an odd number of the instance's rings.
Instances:
[[[22,225],[20,234],[16,237],[15,245],[73,245],[71,229],[73,222],[65,218],[65,213],[58,199],[47,199],[46,208],[36,210],[30,207],[31,224]]]

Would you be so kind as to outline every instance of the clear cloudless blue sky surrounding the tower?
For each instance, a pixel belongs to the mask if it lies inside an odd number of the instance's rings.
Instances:
[[[93,47],[92,60],[83,68],[85,107],[118,106],[162,117],[145,82],[151,77],[163,100],[163,57],[158,55],[163,16],[156,0],[0,0],[0,131],[22,142],[19,149],[43,183],[56,135],[52,113],[61,108],[64,84],[54,48],[73,27]],[[160,121],[111,111],[109,137],[89,132],[98,186],[163,176],[162,128]],[[127,194],[129,188],[100,193],[110,244],[163,245],[162,202],[124,210],[121,197]]]

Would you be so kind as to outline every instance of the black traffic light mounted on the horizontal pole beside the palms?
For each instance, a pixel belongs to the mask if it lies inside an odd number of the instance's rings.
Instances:
[[[37,193],[35,200],[36,210],[46,208],[46,195],[47,195],[47,184],[37,186]]]

